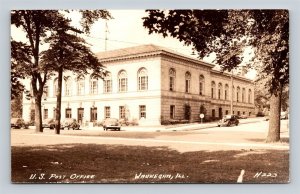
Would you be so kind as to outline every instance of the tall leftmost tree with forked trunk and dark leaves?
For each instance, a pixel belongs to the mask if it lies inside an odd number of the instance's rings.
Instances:
[[[40,46],[45,44],[46,38],[48,38],[51,32],[59,29],[58,25],[64,24],[63,28],[70,28],[70,20],[68,20],[63,12],[69,12],[67,10],[13,10],[11,11],[11,25],[21,28],[26,34],[28,43],[27,49],[23,50],[24,55],[30,58],[30,62],[23,63],[17,66],[17,72],[24,72],[25,77],[31,78],[31,88],[33,98],[35,101],[35,126],[36,132],[43,132],[42,128],[42,114],[41,114],[41,99],[44,91],[44,86],[49,78],[47,64],[40,63],[41,49]],[[110,14],[105,10],[83,10],[81,25],[83,31],[88,33],[91,25],[98,18],[108,18]],[[62,26],[60,26],[62,27]],[[14,37],[12,37],[14,38]],[[18,42],[21,44],[21,42]],[[19,53],[19,52],[18,52]],[[16,63],[22,63],[17,60]],[[20,69],[19,69],[20,68]],[[26,71],[23,71],[26,69]],[[12,78],[15,74],[11,74]]]

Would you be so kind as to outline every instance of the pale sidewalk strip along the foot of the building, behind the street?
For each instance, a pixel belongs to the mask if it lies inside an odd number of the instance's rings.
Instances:
[[[263,121],[263,118],[240,119],[240,124],[255,123]],[[210,123],[188,123],[179,125],[153,125],[153,126],[122,126],[122,131],[143,131],[143,132],[160,132],[160,131],[193,131],[199,129],[208,129],[217,127],[217,121]],[[83,130],[103,130],[102,127],[83,127]]]

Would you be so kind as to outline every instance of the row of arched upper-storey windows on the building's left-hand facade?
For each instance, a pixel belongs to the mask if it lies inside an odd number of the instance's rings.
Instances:
[[[99,77],[95,75],[90,76],[89,80],[89,92],[90,94],[98,94],[98,81]],[[118,73],[118,92],[127,92],[128,91],[128,75],[125,70],[121,70]],[[72,96],[72,91],[74,90],[74,85],[71,77],[66,77],[64,80],[64,91],[65,96]],[[148,90],[148,71],[146,68],[141,68],[137,73],[137,90],[138,91],[146,91]],[[76,94],[77,95],[85,95],[85,77],[78,76],[76,78]],[[58,80],[57,78],[53,81],[53,96],[57,95],[58,91]],[[103,79],[103,93],[111,93],[112,92],[112,76],[111,73],[107,73]],[[44,95],[50,97],[49,87],[45,86]]]

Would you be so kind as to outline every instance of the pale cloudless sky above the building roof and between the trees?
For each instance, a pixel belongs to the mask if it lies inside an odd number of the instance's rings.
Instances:
[[[182,53],[192,58],[196,58],[196,55],[192,55],[192,47],[185,46],[179,40],[172,37],[163,37],[161,34],[149,35],[148,30],[143,27],[143,17],[147,16],[144,10],[108,10],[113,19],[99,20],[95,22],[91,28],[91,33],[88,36],[84,36],[85,40],[90,44],[91,50],[94,53],[106,50],[115,50],[120,48],[138,46],[143,44],[154,44],[176,52]],[[72,20],[72,25],[79,26],[80,14],[70,13],[67,15]],[[107,27],[106,27],[107,26]],[[106,32],[107,31],[107,32]],[[11,28],[12,36],[15,40],[26,40],[24,33],[15,27]],[[105,37],[107,41],[105,43]],[[46,49],[44,45],[43,49]],[[248,55],[249,51],[246,52]],[[247,58],[247,56],[245,57]],[[203,61],[212,63],[214,55],[204,58]],[[216,69],[218,69],[216,67]],[[254,79],[256,75],[255,71],[249,71],[246,77]]]

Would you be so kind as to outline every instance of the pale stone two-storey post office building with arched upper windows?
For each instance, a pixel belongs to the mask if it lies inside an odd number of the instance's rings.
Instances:
[[[159,125],[170,119],[194,122],[199,121],[200,106],[206,110],[206,119],[230,114],[231,75],[212,70],[212,64],[155,45],[97,56],[109,72],[104,80],[92,74],[78,78],[71,72],[64,73],[62,120],[75,118],[91,124],[111,117],[135,120],[140,125]],[[29,80],[24,83],[29,89]],[[233,76],[233,83],[234,113],[251,116],[253,83],[239,76]],[[50,79],[42,101],[43,118],[55,116],[55,90],[56,80]],[[32,102],[24,98],[25,120],[30,120],[31,107]]]

